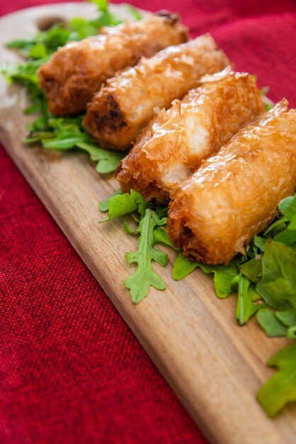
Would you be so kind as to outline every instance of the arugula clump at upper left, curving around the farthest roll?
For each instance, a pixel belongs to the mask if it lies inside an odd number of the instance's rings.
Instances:
[[[72,40],[81,40],[98,33],[102,26],[115,26],[123,21],[110,12],[107,0],[91,0],[98,6],[98,17],[93,20],[72,18],[68,23],[56,23],[50,29],[41,31],[33,37],[13,40],[7,48],[17,50],[27,60],[14,66],[5,64],[1,72],[9,84],[18,83],[28,90],[31,105],[25,114],[38,113],[30,125],[30,133],[25,138],[27,144],[38,143],[47,150],[84,150],[91,160],[97,162],[96,171],[101,174],[114,172],[125,152],[103,150],[91,140],[82,126],[83,116],[78,118],[57,118],[48,111],[47,101],[39,88],[37,70],[60,46]],[[127,7],[127,6],[126,6]],[[128,8],[133,18],[140,18],[136,9]]]

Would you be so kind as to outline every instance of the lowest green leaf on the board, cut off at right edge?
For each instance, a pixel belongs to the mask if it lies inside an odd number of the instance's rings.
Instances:
[[[268,365],[278,367],[279,372],[261,387],[257,399],[273,417],[285,404],[296,401],[296,343],[275,353]]]

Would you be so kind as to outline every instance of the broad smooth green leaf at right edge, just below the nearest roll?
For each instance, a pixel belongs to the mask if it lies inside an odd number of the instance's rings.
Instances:
[[[296,308],[296,251],[268,240],[262,259],[262,279],[257,292],[275,309]]]

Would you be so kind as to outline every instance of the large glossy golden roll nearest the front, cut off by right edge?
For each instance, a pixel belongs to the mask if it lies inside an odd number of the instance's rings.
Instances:
[[[206,264],[244,253],[296,189],[296,110],[283,100],[205,160],[171,203],[169,236]]]

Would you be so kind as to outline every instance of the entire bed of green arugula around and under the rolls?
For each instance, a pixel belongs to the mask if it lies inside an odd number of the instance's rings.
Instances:
[[[16,82],[28,90],[31,105],[24,112],[38,113],[38,118],[28,126],[25,143],[37,143],[50,150],[83,150],[97,163],[99,173],[110,174],[125,153],[103,150],[94,143],[81,124],[83,116],[52,116],[43,91],[38,87],[36,75],[38,67],[60,46],[96,35],[101,26],[115,26],[121,22],[108,9],[107,0],[91,1],[98,6],[97,18],[91,21],[73,18],[67,24],[55,24],[31,38],[8,43],[7,47],[17,50],[24,60],[17,65],[4,65],[1,72],[9,83]],[[139,11],[132,6],[125,7],[133,18],[141,18]],[[168,255],[154,245],[162,243],[173,248],[166,233],[167,208],[153,206],[132,190],[130,194],[115,192],[99,204],[99,209],[108,214],[103,222],[130,213],[135,222],[136,228],[130,228],[127,221],[123,223],[125,233],[138,239],[137,251],[125,255],[128,263],[136,264],[136,271],[123,282],[130,290],[132,301],[135,304],[142,301],[150,287],[164,290],[166,282],[153,270],[152,262],[162,267],[168,262]],[[277,367],[278,372],[257,394],[268,416],[275,416],[285,404],[296,401],[296,194],[280,201],[278,209],[278,216],[264,233],[255,236],[246,254],[238,255],[228,265],[190,262],[180,252],[176,252],[173,264],[175,280],[183,279],[200,268],[214,275],[218,298],[224,299],[237,292],[236,317],[239,325],[243,326],[256,315],[266,335],[290,340],[290,345],[268,360],[268,365]]]

